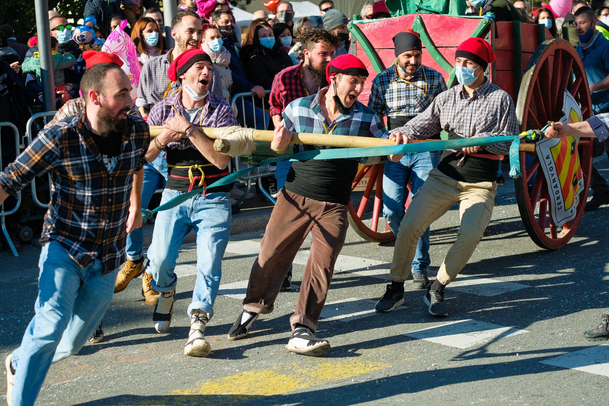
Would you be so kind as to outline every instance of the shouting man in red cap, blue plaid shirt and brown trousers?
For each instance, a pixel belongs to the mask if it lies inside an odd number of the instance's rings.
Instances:
[[[294,131],[303,133],[376,136],[389,135],[379,117],[357,101],[364,89],[368,71],[351,54],[328,63],[329,86],[319,93],[289,103],[283,121],[275,128],[271,149],[285,152]],[[303,145],[305,150],[326,149]],[[400,160],[400,155],[389,159]],[[317,321],[334,272],[334,264],[345,242],[347,204],[351,183],[357,173],[357,159],[309,159],[294,162],[260,244],[260,254],[252,266],[243,312],[228,332],[229,340],[247,337],[260,313],[273,311],[287,268],[311,232],[311,256],[305,268],[294,315],[290,317],[292,337],[288,351],[319,356],[330,349],[328,340],[315,337]]]

